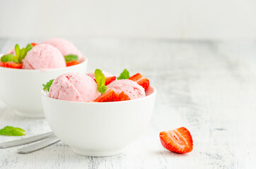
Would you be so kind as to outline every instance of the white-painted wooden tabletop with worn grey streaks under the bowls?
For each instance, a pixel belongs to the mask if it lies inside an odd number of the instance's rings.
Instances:
[[[117,75],[127,68],[149,77],[158,89],[151,124],[125,154],[78,156],[62,142],[26,155],[14,147],[0,149],[0,168],[255,168],[256,42],[70,40],[88,56],[88,70]],[[0,39],[0,53],[32,41]],[[0,101],[5,125],[22,127],[25,137],[50,131],[45,119],[20,118]],[[194,150],[163,149],[159,132],[182,126],[192,133]],[[0,142],[17,138],[0,136]]]

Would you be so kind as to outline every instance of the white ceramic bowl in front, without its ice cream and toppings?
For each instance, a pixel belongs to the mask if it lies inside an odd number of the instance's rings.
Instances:
[[[117,102],[74,102],[52,99],[42,91],[42,106],[54,134],[83,156],[122,153],[149,124],[156,89],[146,97]]]

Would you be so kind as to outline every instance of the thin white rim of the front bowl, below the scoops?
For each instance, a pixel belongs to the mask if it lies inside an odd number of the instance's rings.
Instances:
[[[111,102],[95,102],[95,101],[89,101],[89,102],[82,102],[82,101],[65,101],[65,100],[59,100],[59,99],[54,99],[50,96],[46,96],[45,95],[45,91],[42,89],[41,90],[41,96],[44,96],[47,99],[50,99],[52,101],[59,101],[59,102],[63,102],[63,103],[72,103],[72,104],[122,104],[122,103],[127,103],[127,102],[134,102],[134,101],[141,101],[144,99],[149,99],[150,97],[156,95],[156,87],[153,87],[152,85],[150,85],[149,87],[152,87],[153,92],[147,96],[138,98],[138,99],[132,99],[132,100],[127,100],[127,101],[111,101]]]

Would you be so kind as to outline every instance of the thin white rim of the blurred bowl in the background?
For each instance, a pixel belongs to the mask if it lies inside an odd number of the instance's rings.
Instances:
[[[4,54],[0,54],[0,57],[3,56]],[[16,68],[4,68],[0,66],[0,70],[10,70],[10,71],[14,71],[14,72],[54,72],[54,71],[62,71],[64,69],[71,69],[71,68],[76,68],[76,67],[80,67],[82,65],[86,65],[88,63],[88,58],[86,56],[84,57],[84,61],[82,63],[79,63],[77,65],[72,65],[69,67],[65,67],[65,68],[51,68],[51,69],[16,69]]]

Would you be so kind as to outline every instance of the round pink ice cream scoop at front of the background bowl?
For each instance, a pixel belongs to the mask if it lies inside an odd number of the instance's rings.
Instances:
[[[65,68],[66,61],[57,48],[50,44],[38,44],[23,59],[23,69]]]

